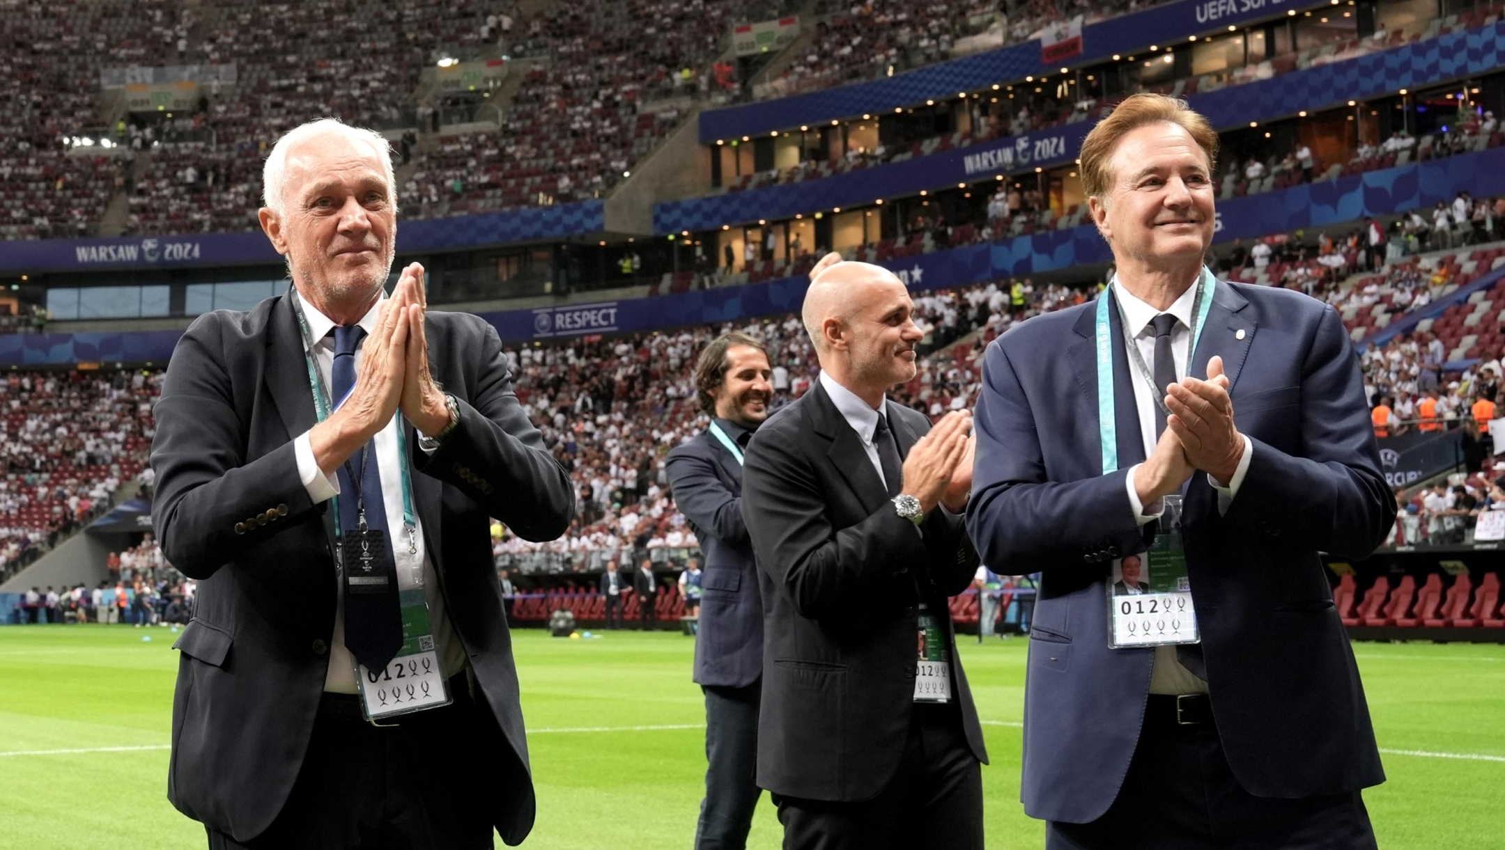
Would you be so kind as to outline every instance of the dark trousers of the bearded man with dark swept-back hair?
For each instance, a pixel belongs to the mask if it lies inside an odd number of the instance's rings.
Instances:
[[[757,706],[763,683],[703,686],[706,694],[706,797],[695,850],[743,850],[757,808]]]

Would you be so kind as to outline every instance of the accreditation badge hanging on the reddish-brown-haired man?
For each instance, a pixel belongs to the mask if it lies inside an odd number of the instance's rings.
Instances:
[[[1196,644],[1196,609],[1186,578],[1181,496],[1165,496],[1160,530],[1150,549],[1114,561],[1108,584],[1109,645]]]

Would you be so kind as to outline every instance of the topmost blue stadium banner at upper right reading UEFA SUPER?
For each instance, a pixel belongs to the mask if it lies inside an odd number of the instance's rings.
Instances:
[[[1177,0],[1153,9],[1120,15],[1081,29],[1082,51],[1072,65],[1103,62],[1115,53],[1129,54],[1151,44],[1186,41],[1215,29],[1237,27],[1288,11],[1329,6],[1330,0]],[[700,113],[700,141],[766,135],[802,123],[825,123],[865,113],[892,111],[895,107],[927,99],[954,98],[993,83],[1023,80],[1028,75],[1060,74],[1061,65],[1043,62],[1038,39],[989,50],[951,62],[927,65],[868,83],[852,83],[756,104],[724,107]]]

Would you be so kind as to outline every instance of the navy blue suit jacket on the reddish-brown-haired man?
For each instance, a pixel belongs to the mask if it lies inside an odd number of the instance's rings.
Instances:
[[[1109,561],[1145,548],[1126,475],[1144,459],[1118,310],[1117,472],[1102,474],[1096,301],[1029,319],[989,346],[977,408],[972,540],[999,572],[1041,572],[1025,689],[1025,811],[1085,823],[1118,794],[1153,653],[1108,645]],[[1239,334],[1243,334],[1243,338]],[[1186,489],[1183,540],[1218,733],[1261,797],[1382,782],[1359,671],[1318,552],[1362,558],[1395,521],[1338,314],[1305,295],[1218,283],[1189,367],[1221,355],[1254,454],[1218,513]]]

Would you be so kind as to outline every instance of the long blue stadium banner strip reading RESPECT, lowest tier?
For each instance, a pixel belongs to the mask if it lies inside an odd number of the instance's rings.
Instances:
[[[1358,221],[1367,215],[1431,208],[1439,200],[1451,202],[1461,190],[1476,196],[1505,194],[1505,147],[1219,202],[1215,242],[1257,239],[1345,221],[1358,227]],[[1082,226],[935,251],[885,265],[912,289],[936,289],[1090,266],[1106,263],[1111,257],[1097,230]],[[497,328],[503,342],[516,345],[787,313],[799,307],[807,283],[802,277],[784,278],[631,301],[563,304],[480,316]],[[163,364],[172,355],[178,337],[179,331],[0,334],[0,366],[80,361]]]

